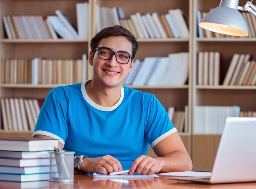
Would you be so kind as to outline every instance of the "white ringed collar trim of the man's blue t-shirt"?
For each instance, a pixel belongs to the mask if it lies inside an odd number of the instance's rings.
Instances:
[[[89,96],[88,96],[88,94],[87,94],[87,92],[86,92],[86,90],[85,90],[85,84],[86,84],[87,82],[89,82],[89,81],[91,81],[91,80],[87,80],[87,81],[85,81],[85,82],[83,82],[83,83],[81,84],[81,92],[82,92],[82,94],[83,94],[83,96],[84,96],[84,99],[85,99],[85,100],[87,101],[87,103],[89,103],[91,106],[93,106],[94,108],[96,108],[96,109],[98,109],[98,110],[101,110],[101,111],[110,112],[110,111],[112,111],[112,110],[114,110],[114,109],[117,109],[118,106],[122,103],[122,101],[123,101],[123,99],[124,99],[124,96],[125,96],[125,90],[124,90],[123,86],[122,86],[122,88],[121,88],[121,97],[119,98],[118,102],[117,102],[114,106],[111,106],[111,107],[99,106],[98,104],[96,104],[95,102],[93,102],[93,101],[89,98]]]

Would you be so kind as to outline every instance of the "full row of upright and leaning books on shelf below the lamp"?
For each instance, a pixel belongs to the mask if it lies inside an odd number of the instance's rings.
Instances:
[[[224,86],[256,85],[256,63],[251,54],[235,53],[224,77]],[[219,85],[221,52],[198,52],[197,84],[203,86]]]

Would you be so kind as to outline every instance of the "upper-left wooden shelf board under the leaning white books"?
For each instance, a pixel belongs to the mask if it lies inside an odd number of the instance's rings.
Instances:
[[[0,39],[2,43],[88,43],[88,40],[64,40],[64,39]]]

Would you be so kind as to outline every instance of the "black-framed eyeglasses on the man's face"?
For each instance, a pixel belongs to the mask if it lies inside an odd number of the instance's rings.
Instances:
[[[107,47],[98,47],[94,49],[95,51],[99,51],[99,58],[103,60],[110,60],[113,55],[116,56],[116,61],[121,64],[127,64],[129,60],[133,59],[131,54],[123,51],[114,52],[112,49],[109,49]]]

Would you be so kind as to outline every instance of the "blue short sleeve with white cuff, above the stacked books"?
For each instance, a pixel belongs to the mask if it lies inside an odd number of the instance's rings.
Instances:
[[[68,136],[67,114],[60,98],[54,93],[50,92],[44,100],[33,137],[35,135],[46,135],[65,145]]]

